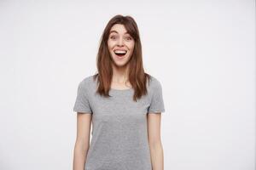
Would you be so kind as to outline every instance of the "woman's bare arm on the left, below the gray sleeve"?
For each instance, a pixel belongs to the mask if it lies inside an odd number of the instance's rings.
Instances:
[[[73,170],[84,170],[87,151],[90,147],[91,114],[77,114],[77,139],[74,147]]]

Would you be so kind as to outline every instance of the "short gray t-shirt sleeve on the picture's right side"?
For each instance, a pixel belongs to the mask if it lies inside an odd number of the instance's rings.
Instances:
[[[152,90],[153,90],[152,98],[151,98],[151,103],[148,107],[148,113],[165,112],[162,87],[158,80],[155,80],[154,88]]]

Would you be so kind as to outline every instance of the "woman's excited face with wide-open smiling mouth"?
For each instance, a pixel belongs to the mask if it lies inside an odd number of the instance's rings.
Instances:
[[[126,32],[124,25],[112,26],[108,37],[108,50],[114,65],[121,67],[129,62],[134,43],[134,39]]]

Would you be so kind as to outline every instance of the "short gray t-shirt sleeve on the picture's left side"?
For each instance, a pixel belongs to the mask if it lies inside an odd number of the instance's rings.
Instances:
[[[73,111],[92,114],[90,103],[86,93],[86,84],[84,82],[79,83],[77,97],[75,100],[75,104],[73,105]]]

